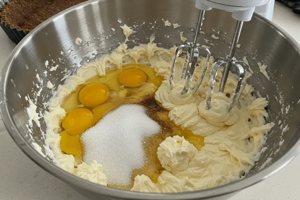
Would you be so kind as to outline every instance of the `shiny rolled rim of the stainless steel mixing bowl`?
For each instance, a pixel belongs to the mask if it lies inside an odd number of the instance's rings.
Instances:
[[[105,1],[105,0],[90,0],[83,2],[81,4],[75,5],[70,7],[51,18],[47,19],[46,21],[42,22],[38,25],[34,30],[32,30],[13,50],[10,54],[6,64],[3,67],[1,76],[0,76],[0,91],[1,91],[1,103],[0,103],[0,112],[5,127],[9,132],[10,136],[19,146],[19,148],[36,164],[41,166],[47,172],[55,175],[57,178],[72,184],[73,186],[83,188],[85,190],[92,191],[94,193],[99,193],[106,196],[116,197],[116,198],[123,198],[123,199],[156,199],[156,200],[173,200],[173,199],[205,199],[209,197],[216,197],[222,196],[229,193],[238,192],[244,188],[252,186],[266,178],[270,177],[274,173],[278,172],[284,166],[286,166],[292,159],[296,157],[296,155],[300,152],[300,140],[298,140],[295,145],[286,153],[284,154],[279,160],[266,166],[264,169],[260,170],[256,174],[247,177],[245,179],[240,179],[238,181],[215,187],[206,190],[199,190],[193,192],[184,192],[184,193],[140,193],[140,192],[132,192],[127,190],[119,190],[112,187],[106,187],[99,184],[92,183],[90,181],[86,181],[82,178],[79,178],[75,175],[70,174],[69,172],[64,171],[60,167],[56,166],[54,163],[49,162],[46,158],[42,157],[35,149],[26,141],[26,139],[19,134],[17,131],[17,126],[13,122],[13,119],[9,115],[8,105],[5,103],[6,101],[6,83],[8,81],[8,75],[10,72],[11,65],[13,60],[16,59],[16,55],[19,53],[20,49],[23,46],[26,46],[29,43],[30,39],[34,37],[35,33],[41,31],[46,25],[50,22],[53,22],[55,19],[58,19],[64,16],[67,13],[70,13],[73,10],[77,10],[80,7],[85,7],[89,4],[94,4],[96,2]],[[300,45],[282,28],[274,24],[273,22],[265,19],[264,17],[254,13],[253,17],[257,18],[260,21],[263,21],[269,24],[275,31],[280,33],[284,38],[286,38],[289,43],[293,44],[293,47],[296,51],[300,53]],[[296,134],[300,134],[300,131],[297,130]]]

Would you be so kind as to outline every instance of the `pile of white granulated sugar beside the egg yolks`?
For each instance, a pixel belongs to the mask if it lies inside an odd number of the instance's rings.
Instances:
[[[144,165],[143,139],[160,130],[144,106],[121,106],[82,134],[84,161],[101,163],[109,184],[128,185],[132,171]]]

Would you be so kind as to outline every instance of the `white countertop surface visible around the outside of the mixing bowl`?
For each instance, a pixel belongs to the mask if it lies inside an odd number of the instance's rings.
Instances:
[[[276,2],[273,21],[300,43],[300,15]],[[16,45],[0,29],[0,70]],[[300,196],[300,156],[271,178],[230,200],[297,200]],[[45,172],[17,147],[7,131],[0,132],[1,200],[86,200],[64,182]]]

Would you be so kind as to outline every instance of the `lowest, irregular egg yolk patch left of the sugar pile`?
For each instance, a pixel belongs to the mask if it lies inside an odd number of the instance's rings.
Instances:
[[[67,131],[61,132],[60,136],[61,139],[59,145],[61,151],[80,159],[82,155],[82,145],[79,136],[72,136],[69,133],[67,133]]]

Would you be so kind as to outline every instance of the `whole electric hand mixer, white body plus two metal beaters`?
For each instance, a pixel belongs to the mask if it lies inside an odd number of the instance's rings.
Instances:
[[[229,70],[231,67],[234,67],[238,71],[238,84],[235,88],[235,93],[232,96],[232,102],[229,106],[230,109],[236,105],[238,99],[244,90],[244,86],[246,84],[245,71],[249,71],[249,66],[247,63],[243,61],[239,61],[235,58],[235,49],[238,44],[238,39],[241,33],[241,29],[244,21],[250,21],[253,15],[253,12],[265,16],[267,18],[271,18],[270,14],[272,14],[272,8],[274,7],[274,0],[196,0],[196,8],[200,10],[198,22],[196,26],[196,33],[194,36],[194,40],[192,43],[183,43],[180,45],[173,58],[173,64],[170,75],[170,87],[173,89],[174,87],[174,75],[175,75],[175,63],[176,57],[179,56],[180,50],[187,50],[187,57],[183,67],[182,78],[185,79],[184,89],[182,94],[187,94],[189,90],[190,92],[195,93],[199,86],[201,85],[204,75],[208,70],[208,61],[210,59],[210,51],[206,48],[200,47],[198,43],[199,34],[202,26],[202,22],[204,19],[204,13],[206,10],[211,10],[212,8],[217,8],[220,10],[226,10],[232,12],[232,18],[237,20],[237,24],[235,27],[235,32],[232,38],[229,54],[225,57],[219,57],[214,60],[214,64],[212,65],[209,81],[208,81],[208,92],[206,97],[206,105],[207,108],[211,107],[211,97],[213,94],[213,87],[215,83],[215,77],[217,75],[217,70],[220,66],[223,66],[223,73],[220,80],[219,91],[223,92],[225,88],[225,84],[228,78]],[[206,65],[204,67],[202,76],[199,77],[198,82],[194,87],[191,86],[191,81],[193,79],[193,74],[197,65],[197,60],[199,58],[199,51],[204,51],[207,54]]]

